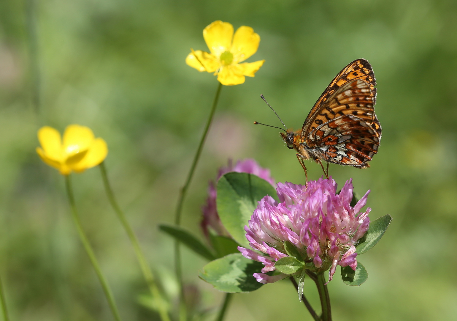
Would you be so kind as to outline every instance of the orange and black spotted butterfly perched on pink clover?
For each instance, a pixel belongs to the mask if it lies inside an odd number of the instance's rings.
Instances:
[[[374,86],[376,79],[370,63],[365,59],[354,60],[335,76],[320,95],[301,131],[280,133],[287,147],[298,152],[297,158],[307,181],[303,162],[307,159],[320,163],[322,170],[321,161],[327,162],[326,176],[329,163],[370,167],[368,162],[377,153],[382,130],[374,112]]]

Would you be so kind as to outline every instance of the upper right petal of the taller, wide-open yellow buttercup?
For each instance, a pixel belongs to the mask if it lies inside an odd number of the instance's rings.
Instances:
[[[233,37],[230,52],[233,54],[234,63],[248,59],[259,48],[260,36],[251,27],[241,26]]]

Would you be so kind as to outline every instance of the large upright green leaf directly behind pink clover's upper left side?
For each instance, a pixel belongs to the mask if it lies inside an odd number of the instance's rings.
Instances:
[[[218,181],[218,214],[227,231],[244,247],[249,243],[244,236],[257,202],[270,195],[277,199],[276,190],[266,180],[247,173],[227,173]]]

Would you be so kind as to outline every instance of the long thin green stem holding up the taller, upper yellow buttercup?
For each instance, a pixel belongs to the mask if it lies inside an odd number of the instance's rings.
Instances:
[[[200,139],[200,144],[198,145],[197,152],[195,153],[194,160],[192,161],[191,169],[189,170],[189,174],[187,174],[186,183],[180,190],[178,203],[176,205],[176,212],[175,212],[175,224],[181,225],[181,212],[182,212],[182,205],[184,203],[184,199],[186,197],[187,189],[191,184],[192,177],[195,172],[195,168],[197,167],[198,160],[200,159],[200,155],[202,154],[203,145],[205,143],[209,127],[211,126],[211,122],[213,121],[214,112],[216,111],[216,107],[218,105],[219,94],[222,89],[222,84],[219,82],[218,89],[216,90],[216,95],[214,96],[213,106],[211,107],[211,111],[209,113],[208,120],[206,122],[205,129],[203,131],[202,138]],[[179,247],[179,241],[175,241],[175,271],[176,271],[176,278],[178,280],[179,288],[180,288],[180,321],[186,320],[186,303],[184,301],[184,288],[182,284],[182,271],[181,271],[181,251]]]

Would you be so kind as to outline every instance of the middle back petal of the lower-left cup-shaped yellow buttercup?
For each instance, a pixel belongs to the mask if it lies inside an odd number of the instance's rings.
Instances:
[[[64,152],[67,157],[84,152],[94,141],[94,133],[89,127],[68,125],[64,132]]]

